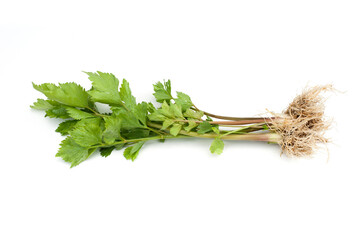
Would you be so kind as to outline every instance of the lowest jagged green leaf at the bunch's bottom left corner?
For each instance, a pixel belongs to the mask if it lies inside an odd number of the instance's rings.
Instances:
[[[56,156],[61,157],[65,162],[70,162],[71,167],[74,167],[86,160],[92,152],[88,148],[78,145],[71,137],[67,137],[61,142]]]

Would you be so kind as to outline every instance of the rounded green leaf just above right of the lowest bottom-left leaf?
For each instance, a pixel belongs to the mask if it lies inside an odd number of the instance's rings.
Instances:
[[[70,136],[82,147],[90,147],[102,143],[102,130],[97,124],[76,125],[70,132]]]

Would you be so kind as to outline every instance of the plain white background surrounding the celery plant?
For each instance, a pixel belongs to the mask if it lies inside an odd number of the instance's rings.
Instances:
[[[360,1],[1,1],[0,239],[360,239]],[[31,82],[81,71],[171,79],[206,111],[280,112],[332,83],[335,124],[313,158],[261,143],[147,143],[69,169]]]

